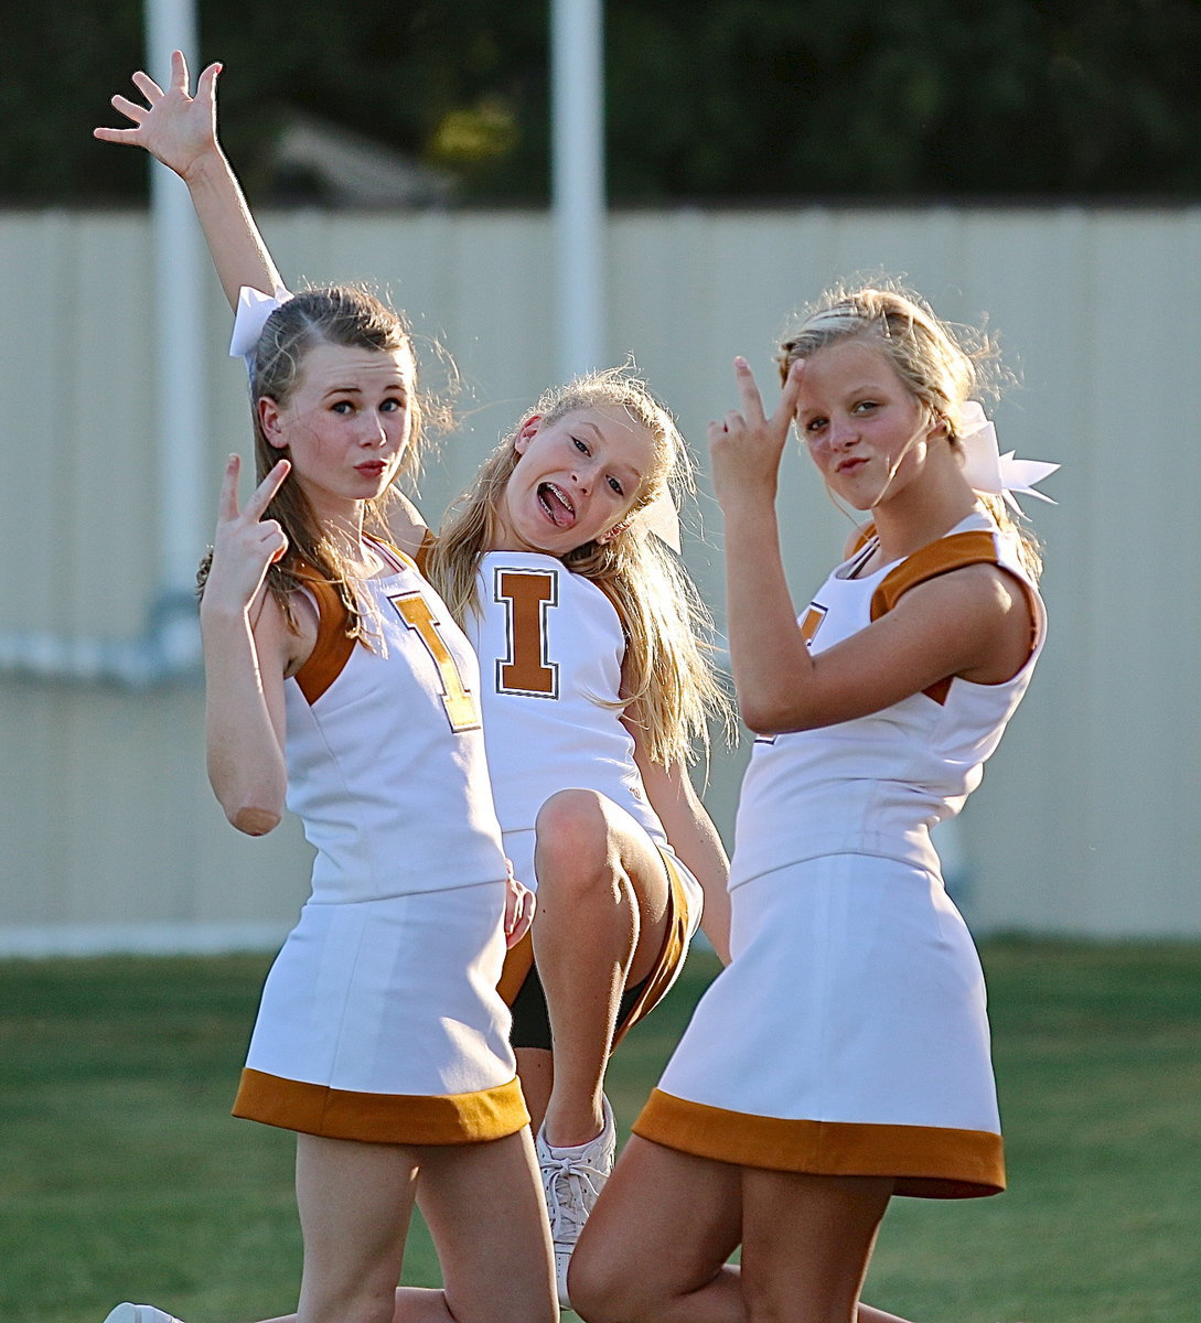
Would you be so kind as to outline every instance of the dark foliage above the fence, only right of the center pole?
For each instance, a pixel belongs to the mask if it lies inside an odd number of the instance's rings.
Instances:
[[[618,0],[612,192],[1196,198],[1198,57],[1198,0]]]

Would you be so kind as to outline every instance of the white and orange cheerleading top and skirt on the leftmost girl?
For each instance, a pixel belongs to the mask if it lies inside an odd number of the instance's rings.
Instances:
[[[320,624],[284,683],[288,807],[316,849],[234,1114],[380,1143],[466,1143],[528,1121],[496,986],[505,861],[475,656],[417,566],[358,585],[370,647]]]

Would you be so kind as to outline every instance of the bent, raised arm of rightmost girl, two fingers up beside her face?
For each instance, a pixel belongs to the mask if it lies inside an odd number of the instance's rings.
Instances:
[[[730,659],[742,720],[757,734],[849,721],[946,676],[997,684],[1030,651],[1032,606],[1021,585],[970,565],[914,587],[873,624],[811,654],[784,578],[775,496],[803,364],[776,411],[763,411],[750,368],[735,365],[741,413],[710,426],[714,486],[726,520]]]

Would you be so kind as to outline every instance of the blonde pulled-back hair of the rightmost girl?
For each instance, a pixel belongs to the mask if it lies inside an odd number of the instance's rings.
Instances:
[[[780,380],[798,359],[841,340],[861,339],[880,349],[931,419],[946,423],[954,448],[964,426],[964,405],[996,394],[1003,376],[993,340],[968,327],[942,321],[921,295],[899,287],[835,288],[800,314],[780,340]],[[1042,573],[1038,540],[1009,513],[1000,496],[976,492],[997,528],[1013,533],[1021,562],[1037,581]]]

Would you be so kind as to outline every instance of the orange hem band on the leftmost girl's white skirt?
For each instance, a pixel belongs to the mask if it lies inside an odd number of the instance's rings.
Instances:
[[[233,1114],[327,1139],[376,1144],[472,1144],[529,1125],[521,1085],[423,1094],[353,1093],[245,1069]]]

